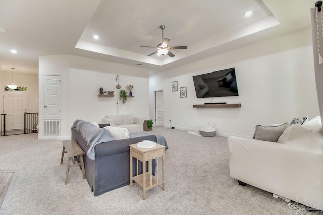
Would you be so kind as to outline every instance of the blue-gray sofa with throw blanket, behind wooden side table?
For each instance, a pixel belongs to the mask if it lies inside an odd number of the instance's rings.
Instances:
[[[87,126],[91,126],[89,124],[91,123],[86,122]],[[91,127],[91,129],[104,129],[94,127]],[[102,127],[102,125],[100,125],[100,127]],[[74,139],[85,152],[83,160],[86,180],[94,192],[94,196],[130,184],[130,144],[143,140],[157,142],[157,137],[155,135],[103,142],[95,145],[95,159],[92,160],[87,155],[90,145],[83,138],[81,133],[79,128],[74,125],[72,126],[72,139]],[[136,163],[136,159],[133,159],[133,175],[136,175]],[[139,161],[138,166],[139,173],[142,173],[142,162]],[[153,174],[155,173],[155,166],[155,161],[153,161]]]

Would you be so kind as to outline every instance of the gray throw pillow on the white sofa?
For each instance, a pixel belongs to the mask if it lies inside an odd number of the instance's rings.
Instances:
[[[257,125],[253,138],[269,142],[277,142],[278,138],[283,134],[288,127],[288,123],[277,126],[261,126]]]

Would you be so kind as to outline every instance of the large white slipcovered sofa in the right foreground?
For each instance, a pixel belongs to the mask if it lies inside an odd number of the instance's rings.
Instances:
[[[320,117],[292,124],[277,142],[228,138],[232,178],[286,201],[323,210],[323,129]]]

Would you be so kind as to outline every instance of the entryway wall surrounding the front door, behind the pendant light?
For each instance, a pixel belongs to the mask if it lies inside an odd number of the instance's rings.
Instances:
[[[0,73],[0,112],[3,113],[3,92],[5,85],[12,82],[12,72],[1,71]],[[38,112],[38,75],[24,74],[14,71],[14,82],[21,87],[27,87],[27,113]]]

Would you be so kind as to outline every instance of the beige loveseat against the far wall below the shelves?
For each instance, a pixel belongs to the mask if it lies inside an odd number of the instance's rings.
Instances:
[[[129,133],[143,131],[143,118],[135,117],[133,113],[122,115],[106,115],[102,119],[103,124],[127,128]]]

